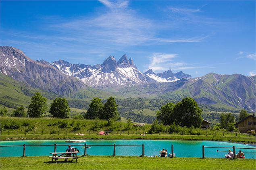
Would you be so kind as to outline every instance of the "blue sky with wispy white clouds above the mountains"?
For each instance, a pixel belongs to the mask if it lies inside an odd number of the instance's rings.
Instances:
[[[256,74],[255,1],[0,1],[1,45],[31,59],[141,72]]]

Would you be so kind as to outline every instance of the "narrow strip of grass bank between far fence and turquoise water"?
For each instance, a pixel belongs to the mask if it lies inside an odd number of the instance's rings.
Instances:
[[[208,140],[208,141],[234,141],[255,142],[252,137],[231,137],[214,135],[1,135],[3,140],[32,140],[32,139],[169,139],[169,140]]]

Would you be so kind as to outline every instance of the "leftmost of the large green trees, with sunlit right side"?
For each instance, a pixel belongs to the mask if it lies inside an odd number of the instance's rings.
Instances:
[[[31,103],[27,107],[27,114],[29,117],[42,117],[46,112],[46,98],[44,98],[39,92],[36,92],[31,97]]]

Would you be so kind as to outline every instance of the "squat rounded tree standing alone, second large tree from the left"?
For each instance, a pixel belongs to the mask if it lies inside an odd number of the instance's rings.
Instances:
[[[50,114],[53,117],[69,118],[70,108],[66,98],[55,98],[50,107]]]

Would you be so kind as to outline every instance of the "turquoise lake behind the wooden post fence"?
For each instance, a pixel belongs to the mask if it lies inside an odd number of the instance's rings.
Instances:
[[[0,145],[50,145],[50,144],[94,144],[94,145],[145,145],[145,155],[158,155],[159,151],[167,149],[171,153],[171,145],[176,157],[202,157],[202,145],[215,147],[253,147],[255,145],[244,145],[241,143],[231,143],[223,141],[175,141],[175,140],[86,140],[82,143],[68,143],[65,140],[27,140],[27,141],[0,141]],[[84,148],[82,146],[74,146],[80,150],[79,155],[83,154]],[[57,146],[56,152],[65,152],[67,146]],[[218,150],[218,152],[217,152]],[[224,158],[228,153],[229,148],[205,148],[205,157],[208,158]],[[231,149],[232,150],[232,149]],[[251,149],[235,149],[235,152],[242,150],[246,158],[256,159],[256,150]],[[49,152],[54,152],[54,146],[26,146],[26,156],[50,156]],[[91,146],[86,150],[88,155],[113,155],[113,146]],[[22,156],[23,147],[0,147],[0,156]],[[140,156],[142,154],[142,147],[125,147],[116,146],[117,156]]]

